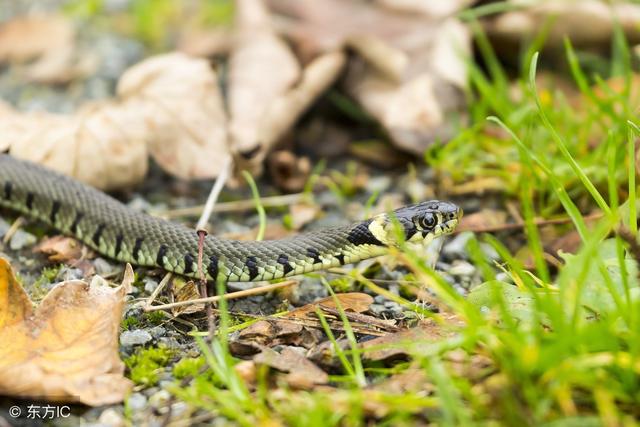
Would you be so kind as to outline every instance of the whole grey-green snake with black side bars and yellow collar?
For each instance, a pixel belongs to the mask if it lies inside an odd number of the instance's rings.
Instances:
[[[429,200],[283,239],[207,235],[202,242],[194,229],[133,210],[87,184],[9,154],[0,154],[0,207],[41,221],[113,260],[228,282],[300,275],[384,255],[405,242],[427,244],[451,233],[462,215],[453,203]]]

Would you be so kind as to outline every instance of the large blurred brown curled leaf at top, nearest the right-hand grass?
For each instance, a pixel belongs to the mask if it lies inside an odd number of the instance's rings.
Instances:
[[[466,86],[468,30],[456,18],[398,13],[367,2],[270,0],[297,17],[288,34],[310,52],[355,48],[364,60],[350,65],[348,92],[375,117],[399,148],[422,154],[447,139]]]

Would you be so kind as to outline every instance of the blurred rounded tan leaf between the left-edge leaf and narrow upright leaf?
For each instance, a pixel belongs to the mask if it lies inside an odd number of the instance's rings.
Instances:
[[[117,93],[148,127],[149,151],[164,170],[184,179],[218,175],[228,154],[226,115],[206,60],[182,53],[149,58],[122,75]]]

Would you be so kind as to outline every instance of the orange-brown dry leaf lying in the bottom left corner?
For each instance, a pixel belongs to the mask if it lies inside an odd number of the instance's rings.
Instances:
[[[126,289],[100,278],[91,285],[63,282],[34,310],[0,259],[0,394],[92,406],[121,402],[132,386],[118,357]]]

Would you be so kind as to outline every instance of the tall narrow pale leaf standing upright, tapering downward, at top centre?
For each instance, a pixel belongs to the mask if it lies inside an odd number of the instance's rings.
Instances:
[[[236,2],[236,41],[229,68],[231,144],[251,159],[261,149],[260,124],[268,118],[268,108],[300,76],[298,61],[271,28],[262,0]]]

